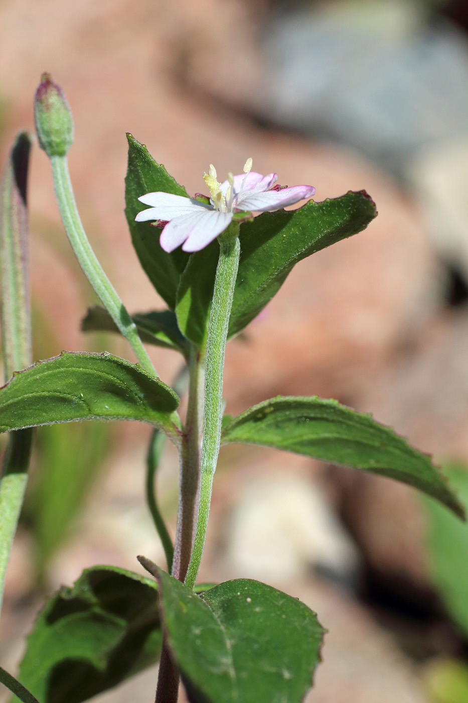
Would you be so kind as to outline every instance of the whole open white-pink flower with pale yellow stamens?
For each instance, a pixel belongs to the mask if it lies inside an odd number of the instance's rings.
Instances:
[[[229,173],[223,183],[216,180],[213,165],[203,177],[211,194],[209,202],[162,192],[138,198],[151,207],[138,212],[135,219],[164,225],[160,238],[164,251],[172,252],[182,245],[185,252],[197,252],[228,228],[235,212],[272,212],[311,198],[316,192],[313,186],[275,186],[278,176],[252,171],[252,159],[247,159],[243,174]]]

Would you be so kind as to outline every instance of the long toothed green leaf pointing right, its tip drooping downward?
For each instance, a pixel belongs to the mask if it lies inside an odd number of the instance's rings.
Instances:
[[[278,396],[234,418],[221,441],[262,444],[387,476],[415,486],[464,516],[446,478],[427,454],[412,449],[370,415],[337,401]]]

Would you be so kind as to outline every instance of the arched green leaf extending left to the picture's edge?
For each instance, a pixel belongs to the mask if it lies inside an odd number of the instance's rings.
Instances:
[[[0,432],[71,420],[141,420],[166,429],[178,397],[136,364],[104,352],[63,352],[0,389]]]

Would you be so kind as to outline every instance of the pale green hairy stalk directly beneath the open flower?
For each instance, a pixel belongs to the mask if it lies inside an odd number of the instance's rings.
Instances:
[[[186,585],[195,586],[207,533],[212,484],[218,461],[223,413],[223,370],[230,309],[233,305],[235,279],[238,275],[240,243],[239,226],[230,228],[219,237],[219,262],[214,282],[213,304],[209,318],[206,359],[204,433],[200,465],[200,505],[193,553],[190,558]]]

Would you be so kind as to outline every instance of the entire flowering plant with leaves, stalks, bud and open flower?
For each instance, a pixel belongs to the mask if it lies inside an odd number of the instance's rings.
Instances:
[[[313,202],[312,186],[276,186],[252,171],[217,181],[190,198],[130,134],[126,219],[143,269],[167,309],[130,316],[86,238],[67,169],[72,117],[63,91],[44,75],[35,102],[40,146],[51,159],[65,231],[103,307],[85,330],[122,334],[138,364],[112,354],[63,352],[31,363],[25,269],[25,175],[30,138],[20,136],[1,186],[2,326],[6,385],[0,430],[11,432],[0,485],[0,577],[4,583],[35,425],[72,420],[140,420],[154,427],[148,450],[148,507],[167,570],[138,557],[154,576],[91,567],[46,602],[27,640],[18,680],[0,681],[23,703],[78,703],[160,659],[156,701],[175,703],[179,679],[192,703],[299,703],[319,661],[323,627],[299,600],[258,581],[197,585],[220,444],[276,447],[346,464],[415,486],[461,515],[427,455],[369,415],[317,397],[278,396],[223,418],[226,341],[280,289],[294,264],[363,230],[377,214],[364,192]],[[141,202],[149,209],[141,209]],[[256,217],[254,217],[256,214]],[[155,226],[162,228],[160,233]],[[158,377],[143,341],[173,349],[184,384]],[[174,545],[157,505],[154,479],[164,439],[180,455]],[[325,623],[326,625],[326,623]]]

